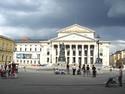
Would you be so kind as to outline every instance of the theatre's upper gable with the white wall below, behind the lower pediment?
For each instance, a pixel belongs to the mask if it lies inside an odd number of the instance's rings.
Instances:
[[[71,25],[69,27],[66,27],[66,28],[59,30],[58,37],[69,35],[71,33],[78,33],[80,35],[83,35],[83,36],[86,36],[89,38],[95,38],[95,31],[93,31],[89,28],[80,26],[78,24],[74,24],[74,25]]]

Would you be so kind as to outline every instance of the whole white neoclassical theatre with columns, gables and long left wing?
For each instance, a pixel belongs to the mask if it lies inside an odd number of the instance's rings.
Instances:
[[[14,61],[27,66],[58,64],[60,44],[64,44],[66,64],[95,64],[98,57],[98,39],[94,30],[74,24],[57,32],[57,37],[46,41],[17,42]],[[108,66],[109,42],[99,42],[100,60],[103,66]]]

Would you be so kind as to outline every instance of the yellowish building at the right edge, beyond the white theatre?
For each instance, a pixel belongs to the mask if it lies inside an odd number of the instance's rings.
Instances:
[[[125,65],[125,50],[115,52],[110,56],[110,64],[116,67]]]

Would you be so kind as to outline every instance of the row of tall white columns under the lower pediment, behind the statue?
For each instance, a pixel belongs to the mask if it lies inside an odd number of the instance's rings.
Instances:
[[[78,66],[83,64],[92,65],[96,60],[96,45],[94,43],[75,43],[63,42],[65,45],[66,64],[76,63]],[[59,43],[53,44],[53,63],[58,63],[59,58]]]

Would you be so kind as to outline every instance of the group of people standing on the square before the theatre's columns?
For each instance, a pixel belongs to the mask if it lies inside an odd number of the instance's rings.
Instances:
[[[92,70],[92,76],[96,77],[97,71],[96,71],[96,67],[94,65],[92,65],[91,68],[89,65],[85,65],[85,64],[83,64],[82,68],[80,66],[77,68],[76,64],[73,64],[73,66],[72,66],[73,75],[75,75],[75,74],[81,75],[83,73],[83,76],[86,76],[86,75],[89,76],[91,74],[91,70]],[[69,73],[70,73],[70,67],[67,64],[67,74],[69,74]]]

